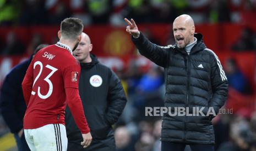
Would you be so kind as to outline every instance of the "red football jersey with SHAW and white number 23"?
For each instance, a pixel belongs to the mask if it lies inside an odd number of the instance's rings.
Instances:
[[[65,124],[68,103],[81,132],[88,133],[89,127],[79,94],[77,99],[74,94],[67,94],[67,90],[72,89],[75,91],[71,92],[78,92],[79,75],[79,63],[67,45],[58,42],[36,53],[22,84],[28,106],[24,129],[36,129],[47,124]]]

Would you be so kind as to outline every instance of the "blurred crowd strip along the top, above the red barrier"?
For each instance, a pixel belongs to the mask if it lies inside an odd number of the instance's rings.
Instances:
[[[196,24],[256,21],[254,0],[1,0],[0,25],[58,25],[69,16],[85,25],[172,22],[189,14]]]

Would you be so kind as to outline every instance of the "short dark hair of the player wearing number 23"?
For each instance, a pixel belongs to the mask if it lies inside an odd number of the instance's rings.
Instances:
[[[61,35],[68,39],[76,39],[83,32],[83,21],[78,18],[66,18],[61,22]]]

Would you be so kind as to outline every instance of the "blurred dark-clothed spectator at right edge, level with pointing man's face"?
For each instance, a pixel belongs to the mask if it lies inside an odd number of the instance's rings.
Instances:
[[[237,43],[234,44],[231,48],[234,51],[244,51],[244,50],[253,50],[256,49],[256,34],[255,32],[246,27],[243,29],[241,37],[238,39]]]

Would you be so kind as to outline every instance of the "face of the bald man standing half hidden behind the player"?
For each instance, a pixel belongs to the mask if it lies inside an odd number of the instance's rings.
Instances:
[[[88,59],[91,50],[92,50],[92,44],[90,42],[89,36],[85,33],[82,33],[81,40],[78,44],[78,47],[73,52],[75,59],[77,59],[79,62],[86,63],[85,61],[86,59]]]

